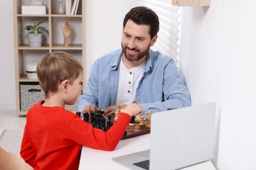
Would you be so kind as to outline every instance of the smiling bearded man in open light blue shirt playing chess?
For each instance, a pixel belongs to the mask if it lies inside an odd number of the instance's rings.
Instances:
[[[96,59],[79,111],[104,109],[105,114],[114,114],[122,103],[140,103],[144,111],[152,112],[191,105],[173,59],[150,50],[158,31],[158,16],[147,7],[135,7],[125,15],[121,49]]]

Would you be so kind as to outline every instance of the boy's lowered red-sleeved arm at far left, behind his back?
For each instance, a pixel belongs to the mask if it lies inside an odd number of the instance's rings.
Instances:
[[[32,146],[30,145],[26,126],[24,129],[24,135],[20,148],[20,156],[26,161],[26,163],[30,164],[32,167],[35,167],[35,153],[33,152]]]

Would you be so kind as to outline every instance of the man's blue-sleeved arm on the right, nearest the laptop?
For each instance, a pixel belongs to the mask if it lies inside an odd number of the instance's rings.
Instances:
[[[179,74],[173,59],[160,63],[154,71],[144,76],[139,87],[140,105],[144,110],[161,112],[191,105],[190,93]]]

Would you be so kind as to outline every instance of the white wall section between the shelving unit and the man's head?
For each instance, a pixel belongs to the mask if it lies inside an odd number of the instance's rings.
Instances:
[[[121,33],[125,14],[137,5],[139,0],[93,0],[86,7],[86,56],[87,78],[96,58],[121,48]]]

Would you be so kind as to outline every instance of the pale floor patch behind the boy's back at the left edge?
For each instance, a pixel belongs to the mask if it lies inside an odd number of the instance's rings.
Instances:
[[[0,135],[4,129],[24,130],[26,116],[18,116],[15,110],[0,110]]]

